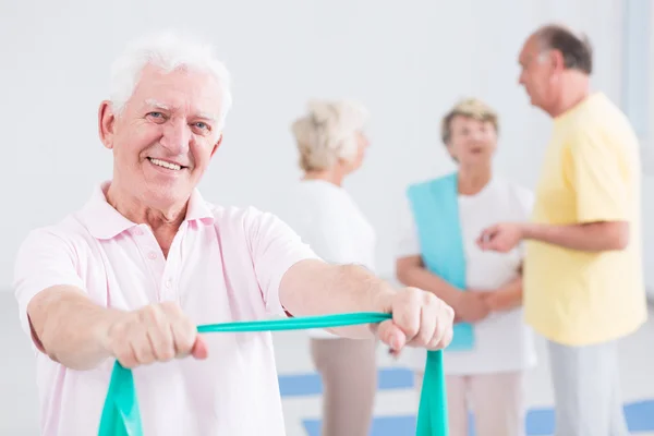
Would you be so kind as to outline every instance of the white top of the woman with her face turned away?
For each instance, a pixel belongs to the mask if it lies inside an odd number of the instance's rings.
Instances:
[[[304,180],[284,203],[279,217],[320,258],[374,270],[375,231],[343,187],[323,180]],[[307,334],[314,338],[337,337],[322,329]]]

